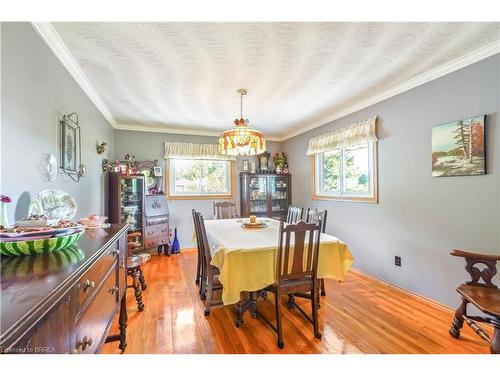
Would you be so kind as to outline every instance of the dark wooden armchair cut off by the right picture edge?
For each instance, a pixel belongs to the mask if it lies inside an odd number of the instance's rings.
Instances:
[[[500,261],[500,255],[469,253],[462,250],[453,250],[450,254],[465,258],[465,269],[472,279],[457,288],[462,303],[455,311],[455,317],[449,330],[450,335],[458,339],[460,329],[465,321],[483,340],[490,343],[491,353],[500,354],[500,289],[491,281],[497,273],[496,263]],[[482,264],[485,268],[481,270],[476,267],[476,264]],[[483,282],[480,282],[481,279]],[[467,315],[469,303],[472,303],[487,316]],[[494,328],[493,337],[490,338],[475,322],[492,325]]]

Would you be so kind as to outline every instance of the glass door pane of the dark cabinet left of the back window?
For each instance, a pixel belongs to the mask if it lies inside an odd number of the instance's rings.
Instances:
[[[120,186],[121,194],[121,218],[123,223],[130,224],[129,233],[138,233],[135,238],[136,246],[142,244],[142,207],[144,199],[144,180],[142,178],[122,178]],[[130,238],[130,236],[129,236]]]

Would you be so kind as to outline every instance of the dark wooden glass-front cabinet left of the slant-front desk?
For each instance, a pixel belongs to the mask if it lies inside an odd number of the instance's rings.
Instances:
[[[130,224],[128,250],[142,250],[144,242],[144,176],[109,175],[109,222]]]

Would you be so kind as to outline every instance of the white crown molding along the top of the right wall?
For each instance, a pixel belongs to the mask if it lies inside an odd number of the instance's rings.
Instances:
[[[360,111],[364,108],[372,106],[374,104],[380,103],[386,99],[389,99],[393,96],[401,94],[405,91],[411,90],[417,86],[423,85],[427,82],[435,80],[437,78],[443,77],[449,73],[452,73],[461,68],[465,68],[468,65],[474,64],[478,61],[484,60],[490,56],[496,55],[500,53],[500,41],[495,41],[493,43],[487,44],[477,50],[474,50],[466,55],[463,55],[455,60],[449,61],[446,64],[438,66],[437,68],[431,69],[425,73],[422,73],[412,79],[409,79],[406,82],[403,82],[389,90],[382,92],[381,94],[374,95],[366,100],[363,100],[359,103],[356,103],[346,109],[341,111],[332,113],[330,116],[325,119],[315,122],[311,125],[303,126],[300,129],[289,132],[286,135],[281,137],[281,142],[286,141],[287,139],[296,137],[300,134],[308,132],[309,130],[315,129],[322,125],[326,125],[332,121],[338,120],[342,117],[350,115],[354,112]]]

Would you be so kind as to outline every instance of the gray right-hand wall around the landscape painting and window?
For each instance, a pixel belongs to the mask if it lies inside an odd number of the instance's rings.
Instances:
[[[284,142],[295,203],[328,209],[327,232],[347,242],[355,267],[455,306],[466,273],[449,251],[500,253],[499,67],[495,55]],[[431,127],[479,114],[488,115],[488,175],[432,178]],[[373,115],[380,203],[313,201],[309,139]]]

